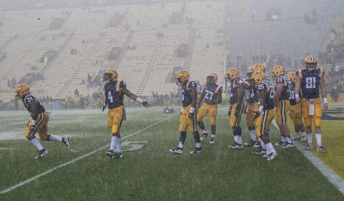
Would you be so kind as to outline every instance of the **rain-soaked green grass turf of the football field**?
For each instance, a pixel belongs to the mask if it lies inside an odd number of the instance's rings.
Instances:
[[[176,109],[178,110],[178,109]],[[203,153],[188,153],[195,147],[188,132],[184,153],[168,149],[178,145],[178,114],[124,141],[148,141],[137,151],[124,152],[120,160],[107,159],[105,148],[75,163],[59,168],[37,180],[0,195],[0,200],[341,200],[343,195],[295,148],[281,150],[275,161],[253,155],[255,148],[229,150],[233,132],[227,108],[217,118],[215,144],[202,142]],[[123,137],[170,115],[162,108],[127,109],[121,128]],[[0,113],[0,190],[66,163],[110,143],[107,114],[99,110],[58,111],[49,122],[48,133],[70,136],[72,149],[58,142],[43,142],[49,154],[34,160],[35,147],[24,139],[28,119],[25,111]],[[204,119],[209,128],[208,118]],[[250,139],[241,121],[243,139]],[[272,129],[273,142],[279,133]],[[15,131],[13,131],[15,130]],[[22,131],[21,131],[22,130]],[[18,132],[21,139],[4,140]],[[5,134],[4,134],[5,133]],[[5,136],[5,137],[4,137]],[[326,139],[326,138],[324,138]],[[324,143],[326,143],[324,141]],[[338,148],[339,150],[339,148]],[[339,170],[341,171],[341,170]]]

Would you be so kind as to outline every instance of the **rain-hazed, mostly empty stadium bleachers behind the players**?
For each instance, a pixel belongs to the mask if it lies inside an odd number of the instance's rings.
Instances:
[[[48,97],[44,102],[74,99],[77,89],[87,105],[94,104],[109,68],[133,93],[151,97],[177,92],[174,78],[181,69],[202,83],[215,72],[226,85],[223,75],[230,67],[243,75],[255,63],[269,73],[276,64],[296,70],[310,54],[326,70],[333,62],[344,67],[341,1],[2,0],[0,5],[2,105],[18,83]]]

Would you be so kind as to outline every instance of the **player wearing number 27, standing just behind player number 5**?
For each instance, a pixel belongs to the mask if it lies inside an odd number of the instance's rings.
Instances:
[[[201,93],[201,97],[198,101],[198,106],[200,107],[199,112],[197,114],[197,123],[199,127],[202,129],[203,136],[200,140],[208,137],[209,134],[204,132],[205,127],[202,119],[205,117],[206,114],[209,113],[209,121],[212,129],[212,138],[210,143],[215,143],[215,133],[216,133],[216,116],[217,116],[217,104],[222,102],[222,86],[216,84],[217,82],[217,75],[215,73],[210,73],[206,77],[206,82],[204,83],[203,90]],[[204,98],[204,104],[202,106],[201,102]]]

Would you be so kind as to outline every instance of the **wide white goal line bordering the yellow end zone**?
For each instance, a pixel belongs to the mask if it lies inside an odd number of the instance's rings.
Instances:
[[[275,120],[272,120],[272,124],[279,130],[278,125]],[[338,176],[331,168],[329,168],[326,164],[324,164],[316,155],[314,155],[311,151],[305,151],[304,146],[300,144],[298,141],[293,141],[297,150],[299,150],[302,155],[306,159],[308,159],[316,169],[318,169],[321,174],[331,182],[331,184],[336,187],[341,194],[344,195],[344,181],[340,176]]]

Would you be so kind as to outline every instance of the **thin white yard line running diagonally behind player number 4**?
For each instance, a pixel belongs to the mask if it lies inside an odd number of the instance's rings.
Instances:
[[[139,132],[141,132],[141,131],[143,131],[143,130],[146,130],[146,129],[152,127],[152,126],[155,126],[155,125],[157,125],[158,123],[161,123],[161,122],[163,122],[163,121],[165,121],[165,120],[167,120],[167,119],[169,119],[169,118],[171,118],[171,117],[174,117],[174,116],[176,116],[176,115],[169,116],[169,117],[167,117],[167,118],[165,118],[165,119],[163,119],[163,120],[160,120],[160,121],[158,121],[158,122],[156,122],[156,123],[154,123],[154,124],[151,124],[150,126],[147,126],[147,127],[145,127],[145,128],[142,128],[142,129],[139,130],[139,131],[136,131],[136,132],[134,132],[134,133],[131,133],[129,136],[125,136],[125,137],[123,137],[122,139],[124,140],[124,139],[129,138],[129,137],[131,137],[131,136],[133,136],[133,135],[136,135],[137,133],[139,133]],[[25,180],[24,182],[21,182],[21,183],[19,183],[19,184],[16,184],[16,185],[14,185],[14,186],[9,187],[8,189],[5,189],[5,190],[0,191],[0,194],[7,193],[7,192],[9,192],[9,191],[11,191],[11,190],[13,190],[13,189],[16,189],[16,188],[21,187],[21,186],[23,186],[23,185],[25,185],[25,184],[28,184],[28,183],[30,183],[30,182],[36,180],[37,178],[40,178],[40,177],[42,177],[42,176],[44,176],[44,175],[46,175],[46,174],[49,174],[50,172],[53,172],[53,171],[55,171],[55,170],[57,170],[57,169],[59,169],[59,168],[65,167],[65,166],[67,166],[67,165],[69,165],[69,164],[72,164],[72,163],[77,162],[77,161],[79,161],[79,160],[81,160],[81,159],[83,159],[83,158],[86,158],[86,157],[88,157],[89,155],[92,155],[93,153],[98,152],[98,151],[100,151],[100,150],[102,150],[102,149],[104,149],[104,148],[106,148],[106,147],[108,147],[108,146],[109,146],[109,145],[105,145],[105,146],[103,146],[103,147],[101,147],[101,148],[98,148],[98,149],[95,149],[95,150],[93,150],[93,151],[91,151],[91,152],[89,152],[89,153],[86,153],[86,154],[84,154],[84,155],[80,155],[79,157],[77,157],[77,158],[75,158],[75,159],[73,159],[73,160],[71,160],[71,161],[69,161],[69,162],[67,162],[67,163],[61,164],[61,165],[56,166],[56,167],[53,167],[53,168],[51,168],[51,169],[49,169],[49,170],[47,170],[47,171],[45,171],[45,172],[42,172],[42,173],[40,173],[40,174],[37,174],[36,176],[33,176],[33,177],[31,177],[31,178]]]

